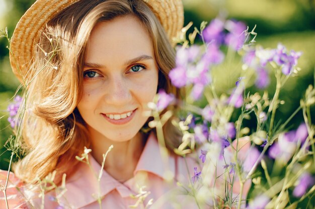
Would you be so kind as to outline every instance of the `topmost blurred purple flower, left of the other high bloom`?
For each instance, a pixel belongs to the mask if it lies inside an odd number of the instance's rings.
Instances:
[[[216,18],[203,30],[202,36],[205,42],[215,42],[221,44],[223,42],[224,34],[224,21]]]

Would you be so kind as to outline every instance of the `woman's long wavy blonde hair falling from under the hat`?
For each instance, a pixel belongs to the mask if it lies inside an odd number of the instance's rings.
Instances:
[[[159,20],[141,0],[79,1],[56,15],[45,27],[26,80],[26,109],[21,123],[26,156],[13,169],[34,183],[56,170],[71,174],[76,155],[89,145],[85,123],[76,109],[82,89],[85,47],[93,27],[119,16],[138,17],[152,38],[159,67],[159,89],[179,97],[168,74],[175,52]],[[178,144],[179,132],[165,126],[168,148]],[[57,179],[58,182],[60,180]]]

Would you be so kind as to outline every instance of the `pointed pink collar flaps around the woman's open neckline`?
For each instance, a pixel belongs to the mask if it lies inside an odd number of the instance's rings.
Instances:
[[[97,176],[101,170],[101,165],[92,157],[92,155],[89,155],[89,162],[91,167],[86,163],[80,162],[75,173],[73,173],[73,175],[66,181],[65,186],[67,192],[63,195],[65,206],[70,204],[74,208],[81,208],[95,202],[95,195],[98,195],[98,193],[103,197],[118,187],[122,188],[119,189],[120,191],[125,191],[120,192],[121,196],[124,197],[130,194],[129,189],[124,183],[114,179],[105,170],[103,171],[100,182],[98,182]],[[145,171],[165,179],[166,171],[169,170],[173,174],[175,173],[175,165],[176,157],[173,155],[167,158],[167,162],[164,162],[156,136],[151,132],[147,138],[133,174],[135,175],[138,171]],[[123,187],[125,187],[125,189]],[[92,194],[94,195],[92,196]]]

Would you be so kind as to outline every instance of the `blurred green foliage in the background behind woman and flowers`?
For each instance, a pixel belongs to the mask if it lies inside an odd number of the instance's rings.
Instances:
[[[15,25],[23,13],[35,0],[0,0],[0,29],[8,27],[11,37]],[[185,25],[190,21],[198,27],[203,20],[210,21],[218,15],[244,21],[250,29],[257,25],[257,43],[267,48],[275,48],[278,42],[287,49],[302,51],[303,55],[298,66],[302,71],[298,77],[290,78],[280,98],[290,103],[280,107],[281,113],[277,120],[288,118],[299,106],[301,95],[306,87],[314,83],[315,68],[315,1],[314,0],[183,0],[185,7]],[[7,40],[0,39],[0,169],[8,168],[9,152],[3,147],[12,134],[7,122],[6,111],[13,100],[19,82],[13,75],[9,64],[9,51],[6,49]],[[218,76],[222,76],[220,74]],[[274,78],[271,76],[270,94],[274,93]],[[220,78],[218,78],[220,79]],[[222,86],[233,84],[231,78],[221,78]],[[227,83],[226,83],[227,82]],[[222,87],[223,88],[223,87]],[[257,89],[250,89],[257,91]],[[312,110],[312,112],[314,112]],[[289,124],[296,127],[300,123],[300,115]],[[250,124],[250,122],[249,122]],[[4,153],[4,154],[3,154]]]

